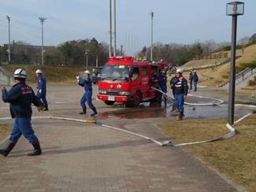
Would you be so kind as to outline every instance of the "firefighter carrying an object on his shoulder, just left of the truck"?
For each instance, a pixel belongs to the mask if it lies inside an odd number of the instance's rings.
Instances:
[[[81,86],[84,87],[85,93],[83,94],[83,97],[80,100],[80,105],[83,109],[83,111],[80,113],[82,114],[86,114],[87,111],[87,107],[85,105],[85,103],[87,102],[87,105],[89,106],[89,108],[93,111],[93,113],[91,114],[91,116],[97,116],[97,110],[95,108],[95,106],[92,104],[91,102],[91,97],[92,97],[92,83],[91,83],[91,77],[90,77],[90,72],[88,70],[86,70],[84,72],[87,75],[86,79],[82,79],[80,76],[76,76],[77,79],[77,83]]]

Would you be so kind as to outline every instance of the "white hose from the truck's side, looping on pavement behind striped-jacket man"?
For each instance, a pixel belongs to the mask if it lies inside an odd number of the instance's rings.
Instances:
[[[162,90],[159,90],[155,87],[151,87],[152,90],[157,90],[158,92],[160,92],[161,94],[163,94],[165,96],[165,98],[169,99],[170,102],[173,102],[174,98],[173,96],[166,94],[165,92],[163,92]],[[208,98],[208,97],[202,97],[202,96],[198,96],[198,95],[194,95],[194,94],[188,94],[192,97],[197,97],[197,98]],[[217,99],[217,98],[208,98],[208,99],[212,99],[217,101],[217,103],[190,103],[190,102],[184,102],[185,105],[191,105],[191,106],[215,106],[215,105],[222,105],[224,103],[224,101],[222,101],[221,99]]]

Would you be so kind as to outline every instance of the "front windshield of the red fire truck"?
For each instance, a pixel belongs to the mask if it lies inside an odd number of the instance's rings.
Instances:
[[[127,65],[105,65],[102,69],[101,79],[107,80],[128,80],[130,67]]]

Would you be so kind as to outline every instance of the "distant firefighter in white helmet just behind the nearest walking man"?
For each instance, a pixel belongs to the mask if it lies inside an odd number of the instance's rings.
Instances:
[[[48,111],[48,102],[46,100],[46,78],[43,76],[43,72],[41,69],[37,69],[35,72],[37,76],[37,94],[36,96],[39,98],[43,105],[45,105],[45,111]]]

